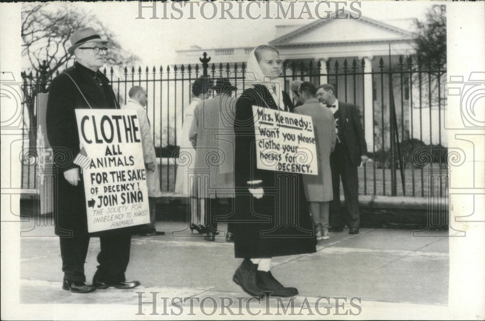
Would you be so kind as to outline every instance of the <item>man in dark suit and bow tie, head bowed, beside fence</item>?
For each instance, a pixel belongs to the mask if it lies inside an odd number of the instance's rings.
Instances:
[[[331,84],[317,87],[318,100],[334,114],[337,144],[330,156],[333,200],[330,202],[331,232],[343,231],[344,220],[340,209],[340,178],[342,179],[349,234],[358,234],[360,226],[357,167],[367,161],[367,144],[355,105],[339,102]]]

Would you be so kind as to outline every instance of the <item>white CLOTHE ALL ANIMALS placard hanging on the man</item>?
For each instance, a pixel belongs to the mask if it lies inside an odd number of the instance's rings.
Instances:
[[[150,223],[136,112],[78,109],[76,118],[88,231]]]

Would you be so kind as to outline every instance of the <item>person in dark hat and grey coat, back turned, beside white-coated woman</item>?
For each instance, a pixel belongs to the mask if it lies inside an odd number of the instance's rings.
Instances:
[[[221,198],[234,198],[234,102],[231,93],[237,90],[228,80],[217,79],[212,87],[217,95],[195,106],[190,128],[190,141],[195,148],[194,189],[206,209],[209,227],[206,241],[214,241],[217,219],[222,219]],[[227,213],[228,215],[230,213]],[[226,241],[232,240],[228,226]]]

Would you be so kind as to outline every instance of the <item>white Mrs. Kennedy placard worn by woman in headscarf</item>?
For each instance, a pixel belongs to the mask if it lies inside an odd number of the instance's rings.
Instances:
[[[318,175],[310,116],[253,106],[257,167]]]

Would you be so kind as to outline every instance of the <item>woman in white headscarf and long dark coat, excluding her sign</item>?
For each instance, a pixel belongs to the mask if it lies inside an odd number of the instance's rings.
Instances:
[[[270,272],[271,258],[314,253],[316,239],[303,189],[302,177],[288,172],[257,168],[252,106],[275,112],[293,112],[282,91],[282,61],[278,51],[259,46],[249,55],[246,89],[236,102],[235,139],[235,257],[244,258],[233,281],[247,293],[262,297],[298,294],[286,288]]]

